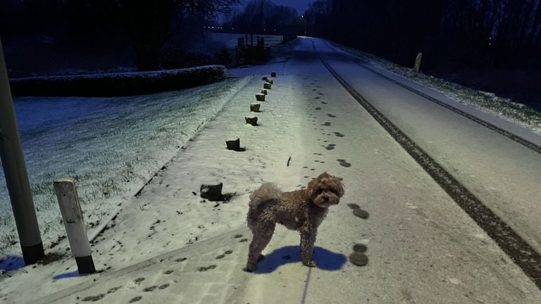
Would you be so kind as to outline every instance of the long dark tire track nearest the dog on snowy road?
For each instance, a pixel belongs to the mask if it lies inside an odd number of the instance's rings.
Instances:
[[[317,52],[316,47],[312,46]],[[440,166],[428,153],[369,103],[349,85],[332,67],[319,57],[325,68],[336,78],[342,87],[365,108],[370,115],[396,140],[416,162],[428,172],[438,185],[464,210],[481,229],[483,229],[509,255],[518,267],[541,289],[541,255],[526,240],[519,236],[504,220],[495,215],[473,195],[464,185]],[[540,148],[541,151],[541,148]],[[540,152],[541,153],[541,152]]]

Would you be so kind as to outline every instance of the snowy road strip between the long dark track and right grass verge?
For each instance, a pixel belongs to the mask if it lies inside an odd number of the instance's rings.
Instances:
[[[321,42],[318,46],[325,51],[329,50]],[[335,51],[331,53],[335,54]],[[538,175],[541,170],[541,151],[537,145],[541,137],[532,132],[525,137],[533,143],[526,141],[526,144],[522,144],[521,141],[513,140],[512,136],[504,136],[502,132],[495,132],[449,108],[413,94],[375,75],[371,70],[335,58],[330,58],[328,63],[483,205],[526,239],[533,250],[541,252],[541,233],[537,229],[541,226],[541,208],[538,205],[541,201],[541,178]],[[444,99],[443,96],[437,97]],[[475,114],[478,113],[474,111]],[[509,125],[503,121],[495,121],[495,124],[503,127]],[[504,132],[516,132],[521,136],[527,132],[517,126],[508,129]],[[468,205],[466,208],[476,207]],[[482,223],[480,225],[483,227]],[[484,229],[495,231],[495,226],[496,222],[490,220]],[[502,234],[506,237],[509,233],[512,232],[509,230]],[[503,246],[515,246],[509,245],[506,239],[499,242]],[[513,258],[530,258],[530,253],[521,257],[521,251],[533,252],[531,248],[521,248]],[[539,257],[537,262],[540,262]],[[536,267],[539,276],[540,265]]]

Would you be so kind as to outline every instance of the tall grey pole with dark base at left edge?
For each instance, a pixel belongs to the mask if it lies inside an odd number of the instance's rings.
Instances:
[[[34,264],[44,257],[42,237],[39,234],[36,210],[32,201],[32,191],[26,172],[23,148],[20,146],[19,131],[8,71],[4,59],[4,49],[0,40],[0,157],[6,175],[13,216],[19,234],[20,248],[25,264]]]

